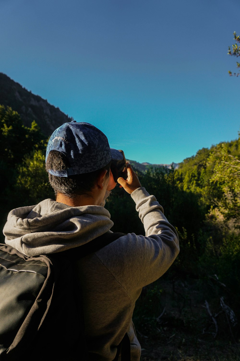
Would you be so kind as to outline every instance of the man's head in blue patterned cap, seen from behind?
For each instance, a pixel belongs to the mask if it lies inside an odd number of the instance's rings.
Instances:
[[[112,159],[122,159],[110,149],[107,137],[89,123],[64,123],[51,135],[46,151],[46,170],[55,194],[68,197],[91,195],[101,174],[109,177]]]

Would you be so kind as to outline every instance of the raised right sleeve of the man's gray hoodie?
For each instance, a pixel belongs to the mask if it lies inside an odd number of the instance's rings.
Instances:
[[[161,277],[179,253],[177,232],[156,198],[143,187],[131,196],[146,235],[128,233],[99,251],[101,261],[130,294]]]

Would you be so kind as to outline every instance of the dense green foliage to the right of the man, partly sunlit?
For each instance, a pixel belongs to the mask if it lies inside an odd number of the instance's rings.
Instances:
[[[173,266],[137,301],[134,320],[144,347],[151,349],[159,340],[172,342],[179,333],[175,347],[183,347],[183,329],[191,334],[186,350],[201,334],[200,342],[206,337],[208,342],[239,342],[239,177],[240,138],[200,149],[176,170],[139,171],[142,186],[156,196],[180,239]],[[112,192],[107,208],[113,230],[144,232],[122,189]]]

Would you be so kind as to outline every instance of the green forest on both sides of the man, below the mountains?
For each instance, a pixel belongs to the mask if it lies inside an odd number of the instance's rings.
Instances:
[[[0,132],[3,227],[10,209],[54,194],[45,172],[47,138],[37,123],[24,126],[17,112],[0,106]],[[211,360],[239,359],[239,177],[240,137],[200,149],[178,169],[139,171],[142,186],[162,204],[180,238],[176,262],[137,301],[133,316],[142,360],[160,360],[160,353],[170,360],[173,349],[186,357],[194,353],[196,360],[210,360],[204,358],[209,352],[218,355]],[[113,231],[144,234],[122,188],[112,191],[106,208]]]

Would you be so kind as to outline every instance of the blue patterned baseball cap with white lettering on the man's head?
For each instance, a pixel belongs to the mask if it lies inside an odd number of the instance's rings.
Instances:
[[[57,177],[93,172],[103,168],[111,160],[123,159],[122,154],[109,147],[108,138],[90,123],[71,121],[64,123],[51,135],[47,144],[46,160],[50,151],[63,153],[70,167],[48,172]]]

